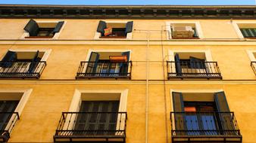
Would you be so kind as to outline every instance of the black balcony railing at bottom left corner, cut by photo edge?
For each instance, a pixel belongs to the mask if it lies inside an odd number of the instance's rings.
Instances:
[[[0,119],[2,120],[0,123],[0,142],[7,142],[15,123],[20,117],[17,112],[0,112]]]

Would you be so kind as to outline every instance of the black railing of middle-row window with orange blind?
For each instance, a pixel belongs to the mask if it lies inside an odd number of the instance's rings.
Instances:
[[[131,78],[132,62],[81,62],[77,78]]]

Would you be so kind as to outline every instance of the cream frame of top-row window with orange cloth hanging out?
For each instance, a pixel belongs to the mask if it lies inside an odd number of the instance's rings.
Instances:
[[[105,21],[105,23],[128,23],[129,21]],[[133,24],[134,25],[134,24]],[[95,32],[95,40],[131,40],[133,38],[133,32],[129,32],[126,35],[126,38],[100,38],[101,32]]]

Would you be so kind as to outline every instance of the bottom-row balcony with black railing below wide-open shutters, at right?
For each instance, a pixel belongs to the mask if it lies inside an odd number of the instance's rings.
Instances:
[[[171,138],[180,142],[242,142],[233,112],[171,112]]]

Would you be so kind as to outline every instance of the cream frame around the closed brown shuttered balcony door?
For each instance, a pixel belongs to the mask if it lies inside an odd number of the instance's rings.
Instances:
[[[119,112],[126,112],[127,111],[127,96],[128,96],[128,89],[125,90],[83,90],[83,89],[76,89],[73,94],[73,99],[70,103],[70,108],[68,112],[78,112],[80,111],[80,105],[82,104],[82,96],[83,93],[119,93],[120,99],[119,99]],[[102,100],[108,100],[108,97],[97,97],[97,99]],[[86,101],[86,100],[84,100]],[[68,117],[67,117],[68,118]],[[70,120],[76,120],[75,117],[72,117]],[[117,129],[125,129],[125,123],[126,123],[126,115],[118,115],[117,117]],[[67,127],[68,126],[68,127]],[[73,124],[75,126],[75,124]],[[73,129],[73,126],[69,126],[68,123],[64,124],[64,128],[67,129]],[[117,133],[117,135],[120,135],[120,132]]]

